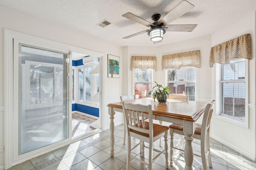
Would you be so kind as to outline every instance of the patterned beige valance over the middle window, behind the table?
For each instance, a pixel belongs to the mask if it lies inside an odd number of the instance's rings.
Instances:
[[[165,68],[180,69],[182,66],[200,68],[200,50],[162,56],[162,70]]]

